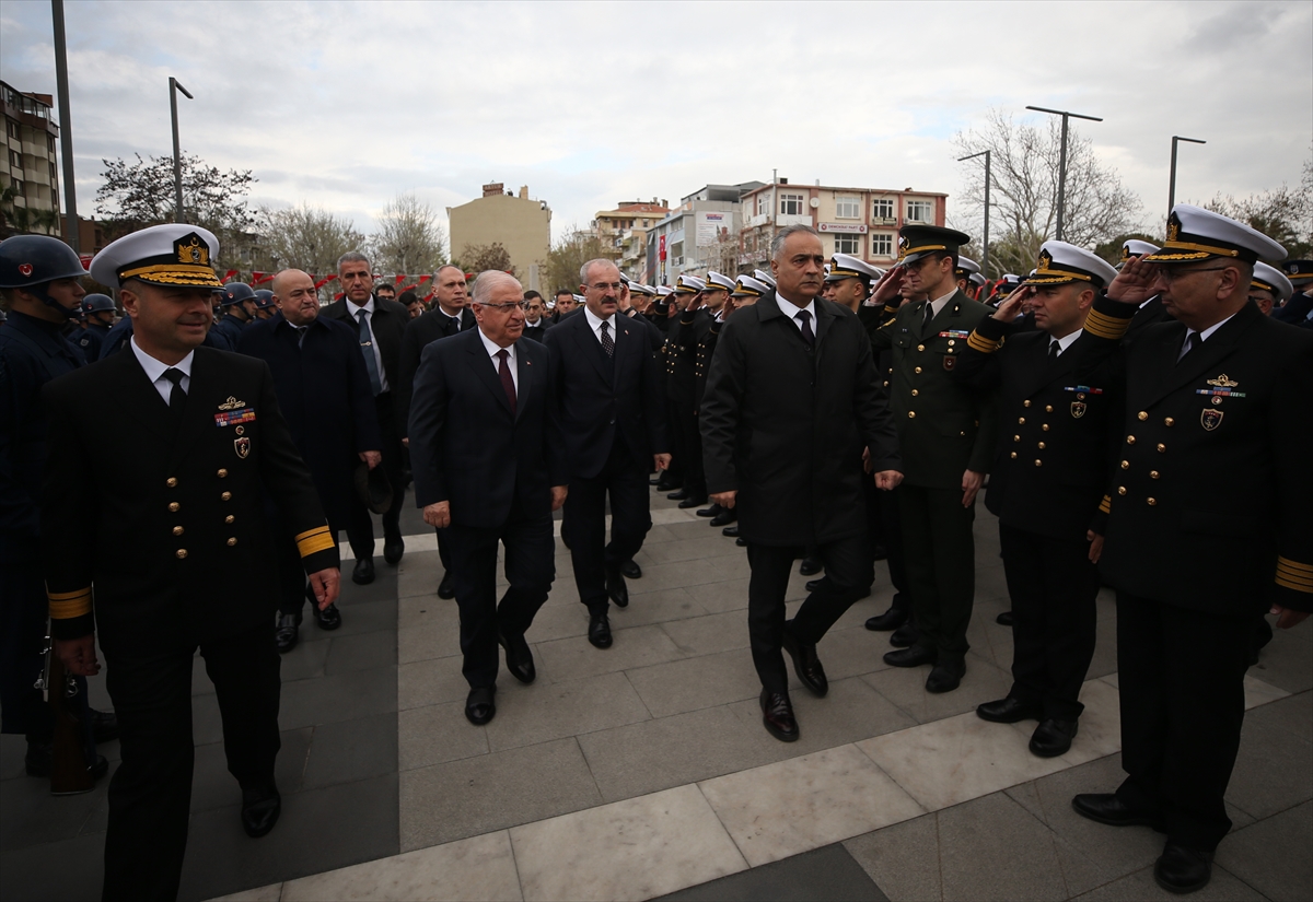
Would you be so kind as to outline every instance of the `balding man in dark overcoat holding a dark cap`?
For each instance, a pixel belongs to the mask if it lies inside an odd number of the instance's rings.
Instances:
[[[351,522],[356,467],[365,461],[374,468],[382,460],[369,375],[352,328],[319,316],[319,294],[307,273],[278,273],[273,294],[281,312],[248,325],[236,350],[269,364],[278,406],[310,468],[336,540],[337,531]],[[280,652],[297,644],[307,598],[320,629],[341,625],[336,604],[319,610],[312,603],[293,543],[282,543],[280,577],[282,603],[274,632]]]

